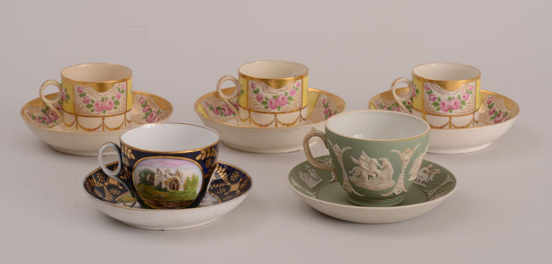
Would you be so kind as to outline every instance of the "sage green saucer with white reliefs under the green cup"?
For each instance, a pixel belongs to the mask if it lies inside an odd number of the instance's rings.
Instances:
[[[328,161],[330,155],[317,160]],[[308,161],[291,169],[288,186],[308,205],[333,218],[355,223],[395,223],[426,214],[457,189],[456,178],[444,167],[424,160],[404,202],[394,207],[361,207],[346,198],[346,192],[330,171],[313,169]]]

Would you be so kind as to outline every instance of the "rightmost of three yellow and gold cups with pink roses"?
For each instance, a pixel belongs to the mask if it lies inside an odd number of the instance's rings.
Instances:
[[[397,95],[402,82],[408,84],[408,94]],[[479,122],[480,86],[477,68],[439,62],[415,66],[412,80],[395,79],[391,93],[404,111],[424,118],[432,129],[461,129]]]

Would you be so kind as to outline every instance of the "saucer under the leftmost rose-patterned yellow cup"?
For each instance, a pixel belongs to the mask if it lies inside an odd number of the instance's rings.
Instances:
[[[54,98],[55,95],[56,93],[52,93],[46,97]],[[172,105],[163,97],[140,91],[133,91],[132,95],[132,124],[164,122],[172,114]],[[72,155],[98,155],[98,149],[103,143],[119,142],[119,135],[124,131],[70,131],[63,128],[59,117],[40,98],[25,104],[21,108],[21,117],[42,142],[52,149]],[[115,151],[106,151],[104,154],[115,155]]]

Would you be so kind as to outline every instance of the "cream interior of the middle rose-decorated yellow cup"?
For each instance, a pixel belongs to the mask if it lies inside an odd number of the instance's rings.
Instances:
[[[261,61],[239,66],[238,72],[259,79],[285,79],[308,73],[308,68],[297,62]]]

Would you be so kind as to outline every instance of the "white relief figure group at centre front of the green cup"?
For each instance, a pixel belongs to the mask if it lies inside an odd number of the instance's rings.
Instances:
[[[381,191],[391,188],[395,184],[393,180],[393,165],[387,158],[370,158],[364,151],[361,151],[360,157],[357,159],[351,157],[351,160],[357,164],[354,167],[349,179],[355,183],[357,187],[364,189]]]

